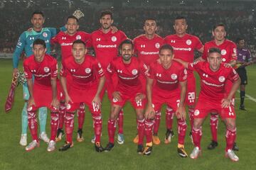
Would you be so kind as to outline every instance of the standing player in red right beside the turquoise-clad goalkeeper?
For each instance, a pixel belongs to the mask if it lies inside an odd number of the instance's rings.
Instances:
[[[82,40],[83,42],[87,42],[90,40],[90,34],[85,33],[83,31],[78,31],[78,18],[75,16],[68,16],[67,23],[65,24],[65,28],[67,29],[66,33],[60,31],[54,38],[51,39],[50,42],[58,43],[61,47],[61,57],[62,61],[66,60],[68,57],[72,57],[72,45],[75,40]],[[71,74],[67,75],[67,79],[72,79]],[[67,82],[72,82],[68,80]],[[70,86],[70,84],[67,84]],[[64,99],[64,98],[63,98]],[[60,101],[60,115],[59,115],[59,127],[57,132],[56,141],[60,141],[63,132],[63,123],[64,123],[64,115],[65,115],[65,103]],[[82,142],[84,138],[82,137],[82,125],[85,121],[85,106],[81,103],[80,108],[78,110],[78,136],[77,141]]]

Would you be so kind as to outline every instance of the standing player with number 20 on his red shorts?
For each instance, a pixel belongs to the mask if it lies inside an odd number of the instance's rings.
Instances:
[[[186,18],[183,16],[176,17],[174,21],[174,30],[176,34],[166,36],[165,43],[174,47],[174,58],[181,59],[186,62],[193,62],[194,60],[194,52],[203,52],[203,44],[199,40],[198,37],[194,35],[190,35],[186,33],[186,29],[188,28],[188,24],[186,22]],[[191,124],[191,130],[193,125],[193,112],[196,103],[196,79],[193,75],[192,71],[188,71],[188,85],[186,91],[186,105],[188,106],[188,115]],[[169,125],[167,126],[166,130],[166,138],[165,142],[171,142],[171,137],[174,136],[174,132],[171,129],[172,127],[172,120],[174,118],[174,111],[170,108],[167,108],[167,114],[169,118],[168,120]],[[156,115],[156,120],[160,118],[160,115]],[[160,119],[159,119],[160,120]],[[192,140],[191,132],[190,137]],[[193,140],[192,140],[193,142]]]

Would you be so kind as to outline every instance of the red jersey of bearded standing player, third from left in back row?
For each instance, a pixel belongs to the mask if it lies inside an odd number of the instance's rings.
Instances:
[[[126,39],[127,36],[121,30],[117,30],[116,33],[112,33],[112,30],[103,33],[102,28],[100,28],[92,33],[90,44],[94,48],[96,58],[102,64],[103,69],[106,69],[114,57],[117,57],[118,47]]]

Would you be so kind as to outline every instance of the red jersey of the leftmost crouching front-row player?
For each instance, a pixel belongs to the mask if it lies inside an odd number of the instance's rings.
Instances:
[[[57,77],[58,63],[55,58],[45,55],[42,62],[36,62],[34,55],[27,57],[23,62],[26,79],[35,77],[34,85],[41,89],[51,89],[50,78]]]

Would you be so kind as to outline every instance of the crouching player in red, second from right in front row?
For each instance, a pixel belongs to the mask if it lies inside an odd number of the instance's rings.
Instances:
[[[146,82],[146,94],[148,106],[146,108],[146,135],[151,136],[152,120],[161,112],[161,106],[166,103],[174,111],[178,121],[178,154],[188,157],[184,149],[186,135],[186,69],[180,63],[173,60],[174,49],[171,45],[163,45],[159,49],[159,62],[153,62],[149,69],[149,79]],[[156,83],[154,84],[154,81]],[[154,84],[154,85],[153,85]],[[153,87],[152,87],[153,86]],[[151,139],[146,139],[145,154],[151,152]]]

